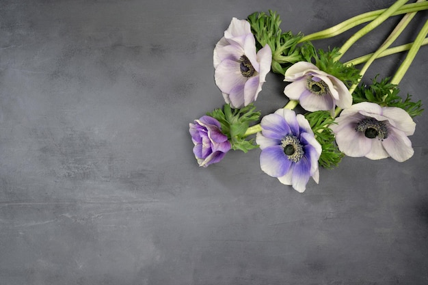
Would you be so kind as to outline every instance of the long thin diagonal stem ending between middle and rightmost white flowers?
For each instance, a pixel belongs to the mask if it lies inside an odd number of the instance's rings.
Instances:
[[[420,1],[425,1],[425,0],[418,0],[418,2],[420,2]],[[386,49],[388,49],[388,47],[392,44],[392,42],[394,42],[394,40],[397,40],[397,38],[403,32],[405,27],[407,27],[407,25],[409,25],[410,21],[412,21],[412,18],[414,18],[415,15],[416,15],[416,12],[410,12],[410,13],[405,14],[405,16],[403,16],[403,18],[397,24],[397,26],[395,26],[394,30],[392,30],[392,32],[390,33],[388,38],[386,38],[384,43],[381,44],[381,46],[379,46],[379,49],[377,49],[377,51],[375,51],[375,53],[373,53],[371,55],[371,57],[367,60],[366,64],[364,64],[364,66],[360,70],[360,79],[358,80],[357,83],[353,84],[349,88],[349,92],[351,94],[353,93],[353,90],[355,90],[356,87],[358,86],[359,81],[364,76],[366,71],[369,69],[369,66],[375,61],[375,59],[377,59],[377,57],[379,57],[379,55],[381,53],[383,53]]]

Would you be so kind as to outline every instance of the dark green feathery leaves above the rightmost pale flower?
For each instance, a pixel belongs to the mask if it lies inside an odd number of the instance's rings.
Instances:
[[[353,103],[371,102],[382,107],[399,107],[405,110],[410,117],[414,118],[423,112],[422,101],[412,101],[412,95],[407,94],[405,100],[399,96],[399,87],[390,83],[387,77],[377,81],[373,79],[371,85],[360,85],[352,93]]]

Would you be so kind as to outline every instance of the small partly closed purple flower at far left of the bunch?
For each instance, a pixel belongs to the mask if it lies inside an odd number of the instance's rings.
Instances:
[[[189,124],[189,133],[199,166],[207,167],[221,161],[230,150],[228,137],[222,133],[220,123],[213,117],[202,116],[195,120],[194,124]]]

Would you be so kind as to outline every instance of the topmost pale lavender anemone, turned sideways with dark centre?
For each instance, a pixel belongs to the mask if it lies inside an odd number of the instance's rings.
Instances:
[[[257,99],[271,69],[272,53],[267,44],[256,52],[248,21],[232,18],[224,37],[215,45],[213,59],[215,83],[226,103],[241,108]]]

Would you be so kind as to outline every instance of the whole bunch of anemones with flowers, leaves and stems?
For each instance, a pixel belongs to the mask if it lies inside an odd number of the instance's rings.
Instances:
[[[345,155],[392,157],[399,162],[410,159],[414,150],[408,136],[415,131],[413,118],[423,109],[421,101],[412,101],[410,94],[401,98],[398,84],[420,46],[427,44],[428,21],[414,42],[390,45],[416,12],[428,9],[428,3],[406,2],[398,0],[390,8],[307,36],[283,32],[280,16],[270,10],[269,14],[255,12],[246,20],[232,18],[213,52],[215,83],[226,104],[189,124],[198,164],[218,163],[231,149],[260,148],[260,169],[303,192],[309,178],[319,182],[319,166],[336,167]],[[340,62],[358,39],[390,16],[402,14],[375,53]],[[312,44],[367,22],[340,48],[323,51]],[[407,56],[394,77],[361,83],[375,59],[403,51],[408,51]],[[356,68],[360,64],[364,66]],[[254,102],[269,72],[282,74],[289,82],[284,88],[289,103],[260,120]],[[295,113],[297,105],[305,113]],[[252,135],[255,138],[249,138]]]

